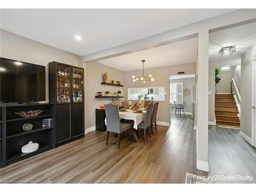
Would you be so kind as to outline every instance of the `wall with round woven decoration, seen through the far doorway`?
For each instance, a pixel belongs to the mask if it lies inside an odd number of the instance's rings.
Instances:
[[[184,107],[184,111],[185,113],[191,113],[191,89],[192,86],[194,86],[194,102],[196,99],[196,82],[195,82],[195,78],[186,78],[186,79],[173,79],[170,80],[170,82],[183,82],[183,91],[185,89],[188,89],[190,91],[189,95],[184,95],[183,94],[183,102],[185,102],[185,107]],[[181,112],[183,113],[183,112]]]

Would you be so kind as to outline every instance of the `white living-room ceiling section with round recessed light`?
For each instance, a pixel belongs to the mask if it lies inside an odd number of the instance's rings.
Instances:
[[[1,9],[1,29],[83,56],[233,10]]]

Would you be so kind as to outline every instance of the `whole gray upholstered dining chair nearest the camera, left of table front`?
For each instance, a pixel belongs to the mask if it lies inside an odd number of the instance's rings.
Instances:
[[[109,132],[118,134],[118,145],[120,146],[120,133],[126,131],[129,134],[129,129],[131,129],[130,123],[121,123],[119,119],[119,108],[118,105],[109,103],[105,104],[105,114],[106,114],[106,145],[109,142]]]

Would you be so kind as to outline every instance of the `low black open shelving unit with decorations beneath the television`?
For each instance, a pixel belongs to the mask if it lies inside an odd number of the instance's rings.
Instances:
[[[22,117],[16,112],[42,111],[37,116]],[[1,167],[26,159],[54,148],[54,104],[1,104]],[[51,119],[47,126],[42,119]],[[25,131],[24,125],[29,123],[32,129]],[[22,153],[22,147],[32,141],[39,148],[32,153]]]

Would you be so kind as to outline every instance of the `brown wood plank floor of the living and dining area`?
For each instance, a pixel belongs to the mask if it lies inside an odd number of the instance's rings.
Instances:
[[[141,135],[142,136],[142,135]],[[117,138],[105,145],[105,132],[2,168],[1,180],[36,183],[185,183],[186,172],[207,176],[196,169],[196,132],[190,116],[173,118],[158,126],[145,143]],[[125,137],[125,135],[124,135]]]

